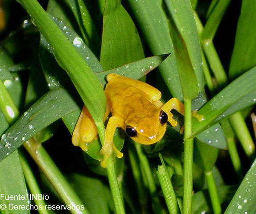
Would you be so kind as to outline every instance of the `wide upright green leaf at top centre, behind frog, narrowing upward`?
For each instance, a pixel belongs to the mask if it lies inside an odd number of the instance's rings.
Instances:
[[[115,29],[115,33],[113,33]],[[120,0],[106,0],[100,64],[104,70],[144,58],[137,29]]]

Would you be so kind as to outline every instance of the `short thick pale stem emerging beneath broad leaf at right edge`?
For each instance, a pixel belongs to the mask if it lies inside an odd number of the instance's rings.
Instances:
[[[237,112],[231,115],[229,120],[239,141],[241,142],[242,147],[244,148],[244,152],[249,157],[249,159],[253,161],[255,159],[255,145],[243,116],[240,112]]]

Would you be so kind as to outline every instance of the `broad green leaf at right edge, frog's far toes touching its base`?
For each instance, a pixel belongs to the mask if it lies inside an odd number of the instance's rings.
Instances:
[[[192,136],[198,135],[236,111],[256,103],[256,67],[242,74],[212,98],[199,111],[204,120],[192,119]],[[191,136],[191,137],[192,137]]]

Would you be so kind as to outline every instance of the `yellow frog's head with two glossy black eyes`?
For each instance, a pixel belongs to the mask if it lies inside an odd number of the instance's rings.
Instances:
[[[154,144],[164,136],[167,120],[168,115],[164,111],[155,111],[153,115],[144,115],[126,123],[125,132],[140,144]]]

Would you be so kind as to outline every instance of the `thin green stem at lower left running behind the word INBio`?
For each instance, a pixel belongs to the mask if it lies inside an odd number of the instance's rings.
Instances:
[[[22,169],[23,169],[23,173],[24,173],[24,176],[25,176],[25,179],[27,181],[27,184],[29,185],[29,190],[32,194],[34,195],[40,195],[42,194],[41,191],[40,191],[40,188],[37,184],[37,180],[36,178],[34,177],[33,175],[33,172],[24,156],[24,154],[22,152],[19,152],[19,157],[20,157],[20,161],[21,161],[21,166],[22,166]],[[38,213],[40,214],[48,214],[48,210],[45,209],[45,201],[44,200],[39,200],[39,199],[33,199],[33,201],[35,202],[35,204],[37,206],[41,206],[42,209],[38,209]]]

